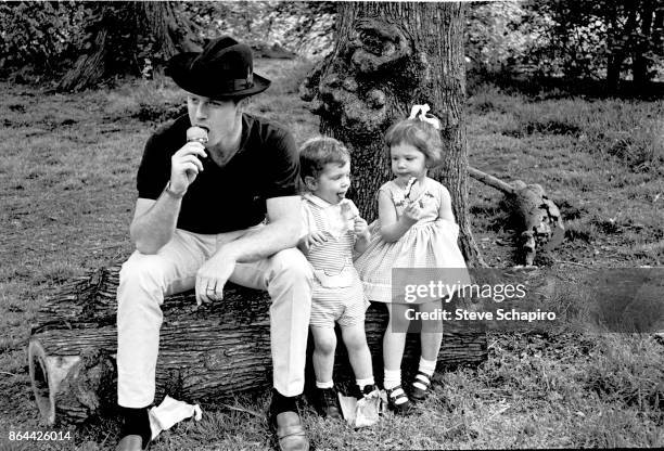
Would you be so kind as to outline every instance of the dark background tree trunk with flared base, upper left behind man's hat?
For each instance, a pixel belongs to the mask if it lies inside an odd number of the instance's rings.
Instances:
[[[141,75],[143,61],[166,61],[179,51],[194,51],[193,25],[179,16],[171,2],[104,2],[88,24],[92,40],[59,85],[79,91],[103,79]]]

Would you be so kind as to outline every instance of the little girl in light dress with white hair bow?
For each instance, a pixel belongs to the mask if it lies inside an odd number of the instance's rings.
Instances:
[[[429,169],[439,165],[443,152],[439,123],[427,116],[427,111],[429,105],[414,105],[410,117],[392,126],[385,134],[395,179],[379,190],[379,219],[372,224],[378,233],[372,234],[367,250],[355,262],[367,297],[392,302],[383,337],[384,387],[390,407],[397,413],[408,413],[412,408],[401,388],[400,366],[408,318],[412,318],[407,310],[413,306],[393,301],[392,269],[462,268],[464,276],[460,282],[468,282],[465,261],[457,246],[459,228],[449,192],[426,177]],[[418,307],[420,312],[434,312],[442,308],[442,301]],[[422,355],[409,390],[414,400],[424,399],[431,386],[443,340],[442,322],[422,321],[420,340]]]

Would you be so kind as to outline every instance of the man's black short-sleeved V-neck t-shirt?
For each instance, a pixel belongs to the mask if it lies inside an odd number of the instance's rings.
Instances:
[[[170,179],[170,157],[187,142],[189,127],[184,115],[150,137],[138,170],[139,197],[159,197]],[[299,192],[299,157],[288,130],[243,114],[240,142],[222,168],[202,158],[204,170],[182,198],[178,229],[204,234],[246,229],[265,219],[267,198]]]

